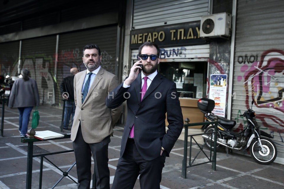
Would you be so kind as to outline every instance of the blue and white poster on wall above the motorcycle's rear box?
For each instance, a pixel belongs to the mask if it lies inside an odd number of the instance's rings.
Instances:
[[[225,118],[227,74],[211,74],[209,98],[215,101],[212,111],[215,115]]]

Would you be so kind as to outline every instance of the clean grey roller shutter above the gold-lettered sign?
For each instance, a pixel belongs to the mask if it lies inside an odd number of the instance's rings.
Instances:
[[[209,0],[134,0],[132,29],[199,21]]]

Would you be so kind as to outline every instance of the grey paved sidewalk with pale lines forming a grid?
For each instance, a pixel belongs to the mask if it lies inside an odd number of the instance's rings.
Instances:
[[[1,113],[2,110],[0,110]],[[34,109],[33,109],[34,111]],[[32,112],[33,112],[32,111]],[[61,133],[62,110],[57,107],[40,105],[40,124],[35,131],[51,130]],[[1,115],[1,114],[0,114]],[[30,121],[32,114],[30,116]],[[24,189],[26,188],[27,170],[27,143],[21,143],[18,131],[18,110],[5,106],[4,111],[4,132],[0,137],[0,189]],[[30,124],[29,124],[30,128]],[[123,126],[118,125],[114,129],[114,135],[109,144],[109,170],[110,185],[112,185],[116,165],[119,158],[120,142]],[[62,134],[70,133],[64,130]],[[189,135],[201,133],[199,129],[189,129]],[[201,136],[193,137],[198,144],[203,144]],[[212,164],[206,163],[187,168],[187,178],[181,177],[184,135],[181,134],[170,157],[166,158],[165,167],[162,173],[160,188],[162,189],[267,189],[284,188],[284,168],[283,165],[272,163],[270,165],[260,165],[254,162],[251,157],[242,153],[230,152],[228,155],[225,150],[217,152],[216,171],[212,170]],[[189,145],[189,144],[188,144]],[[192,145],[193,159],[199,151],[198,145]],[[72,149],[70,139],[57,139],[49,141],[35,142],[34,154],[57,152]],[[188,146],[189,149],[189,146]],[[204,148],[206,154],[209,151]],[[188,152],[189,155],[189,152]],[[47,157],[51,162],[66,172],[75,162],[74,152],[50,155]],[[208,159],[200,152],[196,157],[196,164],[206,162]],[[187,158],[187,164],[189,157]],[[193,163],[195,164],[195,163]],[[93,172],[93,162],[91,170]],[[39,188],[40,158],[33,158],[32,188]],[[76,165],[69,171],[68,176],[77,181]],[[53,188],[55,183],[62,177],[62,172],[54,167],[46,159],[43,159],[42,188]],[[92,183],[92,182],[91,182]],[[92,184],[91,184],[92,185]],[[76,184],[68,177],[56,185],[56,189],[75,189]],[[137,179],[134,189],[140,188]]]

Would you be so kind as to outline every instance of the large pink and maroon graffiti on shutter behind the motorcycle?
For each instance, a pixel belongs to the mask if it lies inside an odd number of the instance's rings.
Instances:
[[[262,125],[272,134],[284,133],[284,51],[270,49],[262,53],[260,61],[249,61],[252,58],[247,60],[247,63],[239,61],[244,65],[241,66],[243,76],[238,76],[246,92],[246,107],[254,100],[254,110],[261,112],[257,114],[257,119]]]

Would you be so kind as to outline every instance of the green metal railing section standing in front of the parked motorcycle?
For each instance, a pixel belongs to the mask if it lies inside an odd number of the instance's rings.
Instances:
[[[212,162],[212,170],[216,170],[216,143],[217,143],[217,125],[218,123],[220,123],[219,121],[211,121],[211,122],[200,122],[200,123],[189,123],[189,119],[186,118],[185,119],[186,124],[184,124],[184,151],[183,151],[183,162],[182,162],[182,173],[181,173],[181,177],[182,178],[186,178],[186,169],[188,167],[193,167],[193,166],[197,166],[197,165],[201,165],[201,164],[205,164],[205,163],[210,163]],[[193,134],[193,135],[188,135],[188,127],[191,126],[203,126],[203,125],[213,125],[214,126],[214,132],[208,132],[206,134],[210,134],[208,139],[205,139],[205,142],[203,145],[200,145],[196,142],[196,140],[193,138],[195,136],[200,136],[203,135],[204,133],[200,133],[200,134]],[[213,142],[213,156],[212,156],[212,148],[210,148],[210,153],[209,156],[204,152],[203,148],[206,144],[206,142],[210,139],[212,139],[214,133],[214,142]],[[188,137],[190,137],[190,145],[189,145],[189,165],[187,166],[187,151],[188,151]],[[196,156],[193,158],[193,160],[191,161],[191,151],[192,151],[192,139],[195,141],[195,143],[197,144],[197,146],[199,147],[199,151],[196,154]],[[212,140],[210,140],[212,142]],[[200,154],[200,152],[203,152],[204,155],[207,157],[208,161],[206,162],[201,162],[198,164],[194,164],[193,162],[195,161],[196,157]]]

